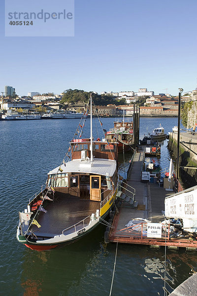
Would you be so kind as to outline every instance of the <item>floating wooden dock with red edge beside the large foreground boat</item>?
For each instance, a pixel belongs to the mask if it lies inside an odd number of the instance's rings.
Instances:
[[[162,231],[161,238],[147,237],[145,227],[148,220],[153,223],[159,223],[165,220],[164,218],[164,200],[165,197],[171,195],[172,191],[167,191],[159,183],[142,183],[141,172],[144,162],[144,148],[138,149],[133,155],[131,166],[128,171],[126,189],[119,191],[119,196],[124,200],[121,203],[119,212],[116,212],[113,220],[113,228],[109,231],[109,242],[150,245],[153,248],[160,246],[168,246],[169,249],[178,249],[185,247],[188,250],[197,251],[197,240],[194,238],[170,237],[169,225],[165,231]],[[135,188],[135,202],[126,199],[125,195],[133,195]],[[130,193],[131,191],[131,193]],[[120,199],[121,199],[120,198]],[[135,225],[127,227],[126,224],[134,219]],[[141,219],[141,221],[140,221]]]

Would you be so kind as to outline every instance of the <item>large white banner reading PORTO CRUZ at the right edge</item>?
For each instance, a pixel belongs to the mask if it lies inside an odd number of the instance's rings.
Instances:
[[[197,189],[165,199],[165,217],[195,218],[197,214]]]

